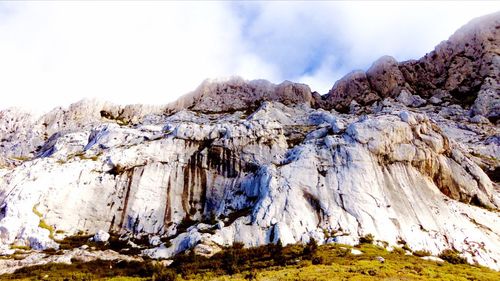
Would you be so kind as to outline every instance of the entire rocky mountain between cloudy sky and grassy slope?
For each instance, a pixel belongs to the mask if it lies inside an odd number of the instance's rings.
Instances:
[[[2,110],[0,252],[94,233],[147,240],[152,258],[371,234],[499,270],[499,43],[495,13],[323,96],[232,78],[165,106]],[[34,255],[0,267],[43,262]]]

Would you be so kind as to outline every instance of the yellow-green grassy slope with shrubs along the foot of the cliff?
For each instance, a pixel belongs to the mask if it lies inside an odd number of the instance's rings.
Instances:
[[[452,251],[441,255],[445,262],[418,257],[425,254],[388,252],[368,243],[354,248],[310,243],[250,249],[236,244],[211,258],[180,255],[169,267],[155,261],[98,260],[22,268],[0,280],[500,280],[499,272],[464,264]]]

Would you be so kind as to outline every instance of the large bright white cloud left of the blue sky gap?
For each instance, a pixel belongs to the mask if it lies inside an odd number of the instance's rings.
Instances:
[[[229,7],[55,2],[0,20],[1,107],[47,110],[83,97],[166,103],[210,77],[276,76],[249,53]]]

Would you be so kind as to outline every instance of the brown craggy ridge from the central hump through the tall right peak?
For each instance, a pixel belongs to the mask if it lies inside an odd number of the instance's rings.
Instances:
[[[421,59],[398,63],[393,57],[383,56],[366,72],[353,71],[341,78],[324,96],[311,93],[306,85],[288,81],[274,85],[238,77],[207,80],[193,93],[169,105],[167,112],[254,110],[262,101],[277,101],[347,113],[353,103],[370,106],[404,93],[418,99],[408,105],[451,102],[469,109],[471,117],[481,115],[495,123],[500,113],[499,32],[499,13],[473,20]]]

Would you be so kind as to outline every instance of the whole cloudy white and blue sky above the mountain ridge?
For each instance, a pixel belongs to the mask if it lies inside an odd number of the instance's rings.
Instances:
[[[500,1],[0,2],[0,109],[165,104],[207,78],[325,94],[383,55],[418,59]]]

